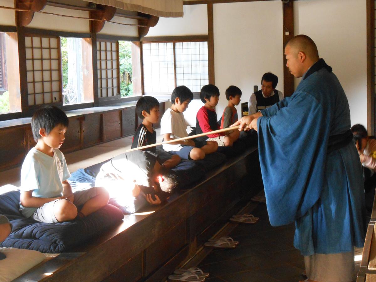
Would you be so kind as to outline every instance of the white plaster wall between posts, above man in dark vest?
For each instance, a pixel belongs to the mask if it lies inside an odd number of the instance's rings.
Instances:
[[[283,92],[282,2],[260,1],[213,5],[215,85],[220,90],[218,119],[227,106],[224,92],[238,86],[247,102],[253,85],[271,71]],[[237,106],[241,117],[241,104]]]

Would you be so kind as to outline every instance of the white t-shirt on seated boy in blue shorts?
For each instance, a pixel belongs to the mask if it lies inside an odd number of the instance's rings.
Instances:
[[[188,136],[186,131],[187,123],[184,119],[183,113],[175,112],[172,109],[167,109],[161,118],[161,135],[170,133],[171,138],[177,139]],[[163,144],[163,149],[167,152],[179,151],[181,145]]]

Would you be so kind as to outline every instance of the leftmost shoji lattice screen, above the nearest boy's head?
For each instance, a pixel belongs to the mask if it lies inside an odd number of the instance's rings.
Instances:
[[[29,106],[61,105],[60,39],[33,35],[25,42]]]

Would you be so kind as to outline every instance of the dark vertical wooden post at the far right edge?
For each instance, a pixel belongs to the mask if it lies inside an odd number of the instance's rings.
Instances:
[[[375,135],[375,3],[367,0],[367,131]]]

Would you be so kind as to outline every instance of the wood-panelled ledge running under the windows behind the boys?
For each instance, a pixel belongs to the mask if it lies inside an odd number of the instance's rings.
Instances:
[[[136,114],[136,102],[67,111],[69,127],[65,134],[63,153],[98,145],[133,135],[141,123]],[[159,99],[159,109],[165,111],[166,99]],[[20,166],[35,146],[31,117],[0,121],[0,171]],[[154,124],[158,128],[160,123]]]

